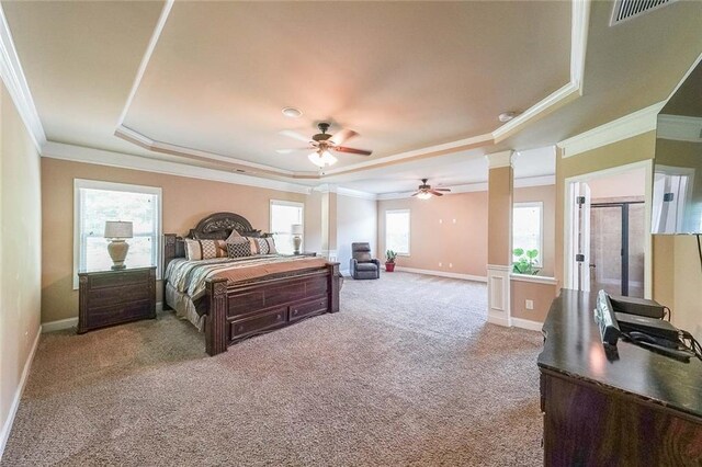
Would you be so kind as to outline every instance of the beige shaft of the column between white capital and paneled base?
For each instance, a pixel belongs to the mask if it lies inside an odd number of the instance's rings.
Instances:
[[[512,167],[490,169],[488,174],[487,262],[509,265],[512,227]]]

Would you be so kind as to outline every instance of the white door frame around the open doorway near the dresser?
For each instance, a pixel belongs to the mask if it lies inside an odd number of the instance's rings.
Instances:
[[[654,189],[654,160],[642,160],[638,162],[627,163],[625,166],[612,167],[610,169],[598,170],[596,172],[588,172],[580,175],[568,176],[564,181],[563,186],[563,200],[564,200],[564,215],[563,215],[563,231],[564,231],[564,244],[563,244],[563,272],[564,272],[564,287],[576,288],[577,284],[573,283],[573,274],[568,274],[574,267],[575,258],[570,258],[568,254],[573,249],[573,238],[576,226],[573,225],[573,204],[569,202],[568,193],[570,193],[570,184],[574,182],[588,182],[595,179],[601,179],[603,176],[618,175],[620,173],[631,172],[632,170],[644,169],[645,171],[645,192],[644,192],[644,231],[648,235],[644,238],[644,298],[650,299],[653,297],[653,235],[650,234],[650,216],[652,216],[652,197]]]

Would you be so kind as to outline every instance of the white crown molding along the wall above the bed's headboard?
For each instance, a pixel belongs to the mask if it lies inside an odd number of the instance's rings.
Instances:
[[[144,172],[185,176],[189,179],[212,180],[215,182],[278,190],[290,193],[309,194],[312,192],[312,187],[296,183],[225,172],[223,170],[215,169],[197,168],[197,170],[193,170],[193,167],[190,164],[148,159],[143,156],[131,156],[122,152],[105,151],[102,149],[93,149],[54,141],[46,143],[42,148],[41,155],[46,158],[68,160],[72,162],[140,170]]]

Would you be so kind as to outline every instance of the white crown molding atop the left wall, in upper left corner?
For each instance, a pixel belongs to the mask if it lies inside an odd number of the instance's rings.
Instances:
[[[20,57],[14,48],[14,41],[2,5],[0,5],[0,77],[26,126],[32,143],[34,143],[36,150],[41,151],[42,146],[46,143],[46,134],[36,111],[30,86],[24,77]]]

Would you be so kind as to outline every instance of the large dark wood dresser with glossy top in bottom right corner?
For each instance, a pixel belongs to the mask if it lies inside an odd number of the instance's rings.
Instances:
[[[544,465],[702,466],[702,362],[621,340],[605,352],[596,300],[563,289],[544,322]]]

